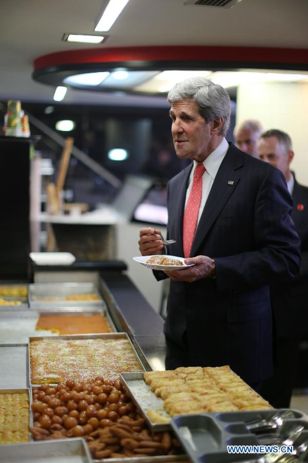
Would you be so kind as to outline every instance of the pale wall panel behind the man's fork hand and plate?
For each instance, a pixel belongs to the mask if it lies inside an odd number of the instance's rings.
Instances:
[[[157,281],[150,269],[132,260],[133,257],[140,256],[138,240],[139,230],[143,226],[147,225],[139,223],[117,225],[117,258],[127,263],[127,275],[153,309],[159,312],[163,282]],[[166,227],[157,225],[156,228],[161,230],[163,237],[166,238]]]

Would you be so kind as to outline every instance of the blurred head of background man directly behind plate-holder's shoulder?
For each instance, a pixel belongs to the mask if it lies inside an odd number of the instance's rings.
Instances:
[[[235,126],[233,135],[236,146],[253,157],[258,157],[258,138],[263,132],[261,122],[247,119]]]

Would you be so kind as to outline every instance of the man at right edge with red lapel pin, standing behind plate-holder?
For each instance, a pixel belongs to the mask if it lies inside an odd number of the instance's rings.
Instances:
[[[301,268],[294,280],[270,287],[274,316],[274,376],[264,382],[261,394],[276,408],[290,406],[297,368],[299,342],[308,330],[308,188],[297,183],[290,170],[294,157],[290,136],[281,130],[264,132],[258,143],[259,158],[283,173],[293,197],[292,218],[301,240]]]

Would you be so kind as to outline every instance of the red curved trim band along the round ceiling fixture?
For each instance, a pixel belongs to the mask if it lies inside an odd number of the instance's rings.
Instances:
[[[153,46],[59,51],[34,60],[34,70],[61,64],[125,61],[241,61],[308,63],[308,49],[221,46]]]

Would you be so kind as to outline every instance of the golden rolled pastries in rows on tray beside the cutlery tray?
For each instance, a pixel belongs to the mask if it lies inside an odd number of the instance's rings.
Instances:
[[[164,409],[171,417],[272,408],[228,365],[147,371],[144,380],[158,397],[164,399]],[[148,416],[153,422],[166,419],[157,410],[149,410]]]

